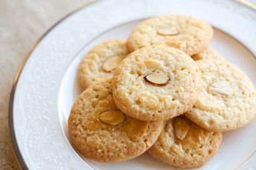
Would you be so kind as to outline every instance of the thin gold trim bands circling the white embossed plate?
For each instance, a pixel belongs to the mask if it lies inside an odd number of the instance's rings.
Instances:
[[[81,11],[81,9],[84,9],[84,8],[86,8],[88,6],[91,6],[92,4],[96,4],[97,2],[100,2],[100,1],[102,1],[102,0],[88,0],[87,2],[84,2],[84,4],[81,4],[81,6],[77,7],[76,9],[72,10],[71,12],[67,13],[65,16],[61,17],[61,19],[56,21],[51,27],[49,27],[49,29],[46,30],[46,32],[44,32],[39,37],[39,39],[36,40],[36,42],[34,42],[34,44],[32,44],[31,49],[29,49],[29,51],[25,55],[24,59],[22,60],[21,64],[19,65],[19,68],[17,69],[17,72],[16,72],[16,74],[14,76],[14,80],[13,80],[13,83],[12,83],[11,93],[10,93],[10,96],[9,96],[8,124],[9,124],[9,134],[10,134],[10,139],[11,139],[12,150],[14,151],[14,156],[16,157],[16,160],[17,160],[17,162],[19,164],[19,167],[21,169],[29,169],[29,167],[27,166],[26,162],[24,161],[24,158],[22,157],[22,154],[21,154],[21,151],[19,149],[19,146],[17,145],[17,139],[16,139],[16,135],[14,133],[14,116],[13,116],[14,114],[13,114],[13,108],[14,108],[14,97],[15,97],[16,87],[17,87],[17,83],[19,82],[19,77],[20,77],[20,75],[22,73],[22,70],[26,66],[27,60],[31,57],[31,54],[36,49],[37,45],[41,42],[42,39],[44,39],[44,37],[46,37],[47,34],[49,34],[49,32],[52,31],[52,29],[54,29],[56,26],[58,26],[62,21],[64,21],[68,17],[72,16],[72,14],[75,14],[76,12]],[[237,4],[242,6],[242,7],[249,7],[250,9],[255,11],[255,9],[252,6],[244,4],[244,3],[240,2],[240,1],[234,1],[234,2],[237,2]],[[217,28],[217,29],[219,31],[221,31],[221,32],[225,32],[225,31],[222,31],[219,28]],[[225,34],[227,34],[230,37],[234,38],[240,45],[245,47],[245,49],[247,49],[250,52],[250,54],[253,55],[254,59],[256,59],[256,55],[254,55],[254,52],[252,52],[252,50],[250,50],[249,47],[247,47],[239,39],[237,39],[236,37],[230,35],[229,33],[225,32]],[[249,159],[255,153],[256,153],[256,151],[254,151],[254,153],[252,153],[252,155],[250,155],[249,158],[247,158],[242,164],[240,164],[240,166],[238,166],[237,169],[241,168],[245,163],[247,163],[247,161],[249,161]]]

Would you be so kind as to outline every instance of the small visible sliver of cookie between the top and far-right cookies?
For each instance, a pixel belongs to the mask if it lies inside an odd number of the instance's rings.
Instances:
[[[224,57],[222,57],[220,54],[215,52],[215,50],[212,50],[209,48],[202,50],[198,54],[192,55],[191,57],[194,60],[202,60],[202,59],[225,60]]]

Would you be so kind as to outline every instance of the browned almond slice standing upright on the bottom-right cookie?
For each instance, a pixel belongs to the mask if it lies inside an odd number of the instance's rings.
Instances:
[[[177,117],[174,120],[174,133],[178,139],[183,140],[189,131],[190,125],[187,120]]]

